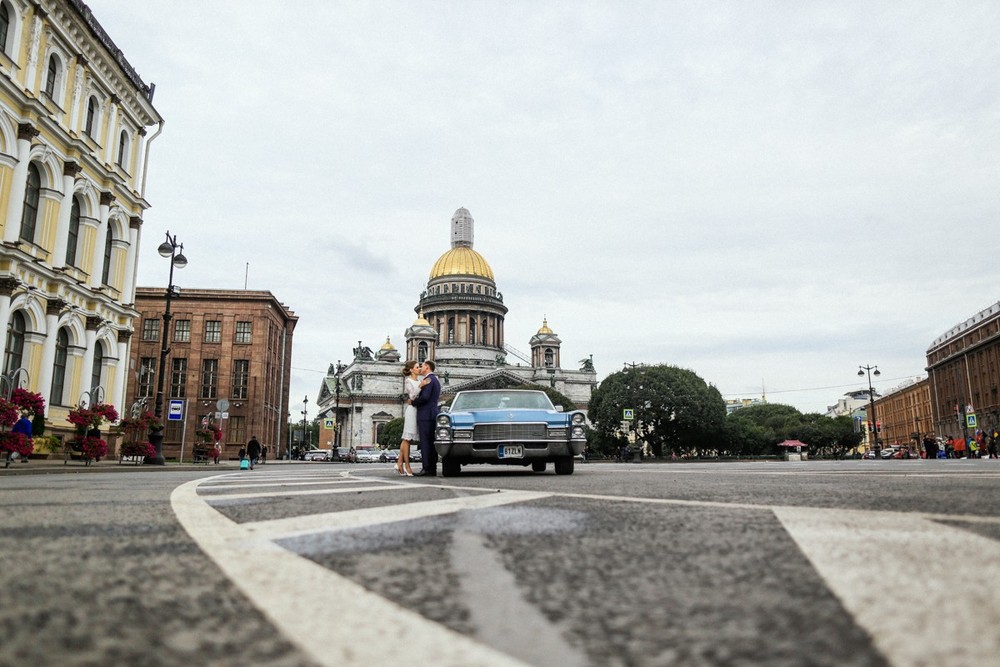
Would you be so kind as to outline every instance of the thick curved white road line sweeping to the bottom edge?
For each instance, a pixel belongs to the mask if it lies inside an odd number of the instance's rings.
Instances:
[[[258,531],[247,531],[198,495],[201,481],[183,484],[170,496],[181,525],[261,613],[317,664],[526,667],[282,549]],[[268,576],[261,577],[262,571]],[[303,623],[337,618],[378,622],[355,623],[349,633],[316,632],[311,623]],[[389,638],[386,628],[391,629]]]

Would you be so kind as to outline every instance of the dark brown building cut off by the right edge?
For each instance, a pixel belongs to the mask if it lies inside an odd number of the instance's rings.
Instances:
[[[979,428],[1000,426],[1000,303],[931,343],[927,373],[938,435],[963,435],[967,412],[975,413]]]

